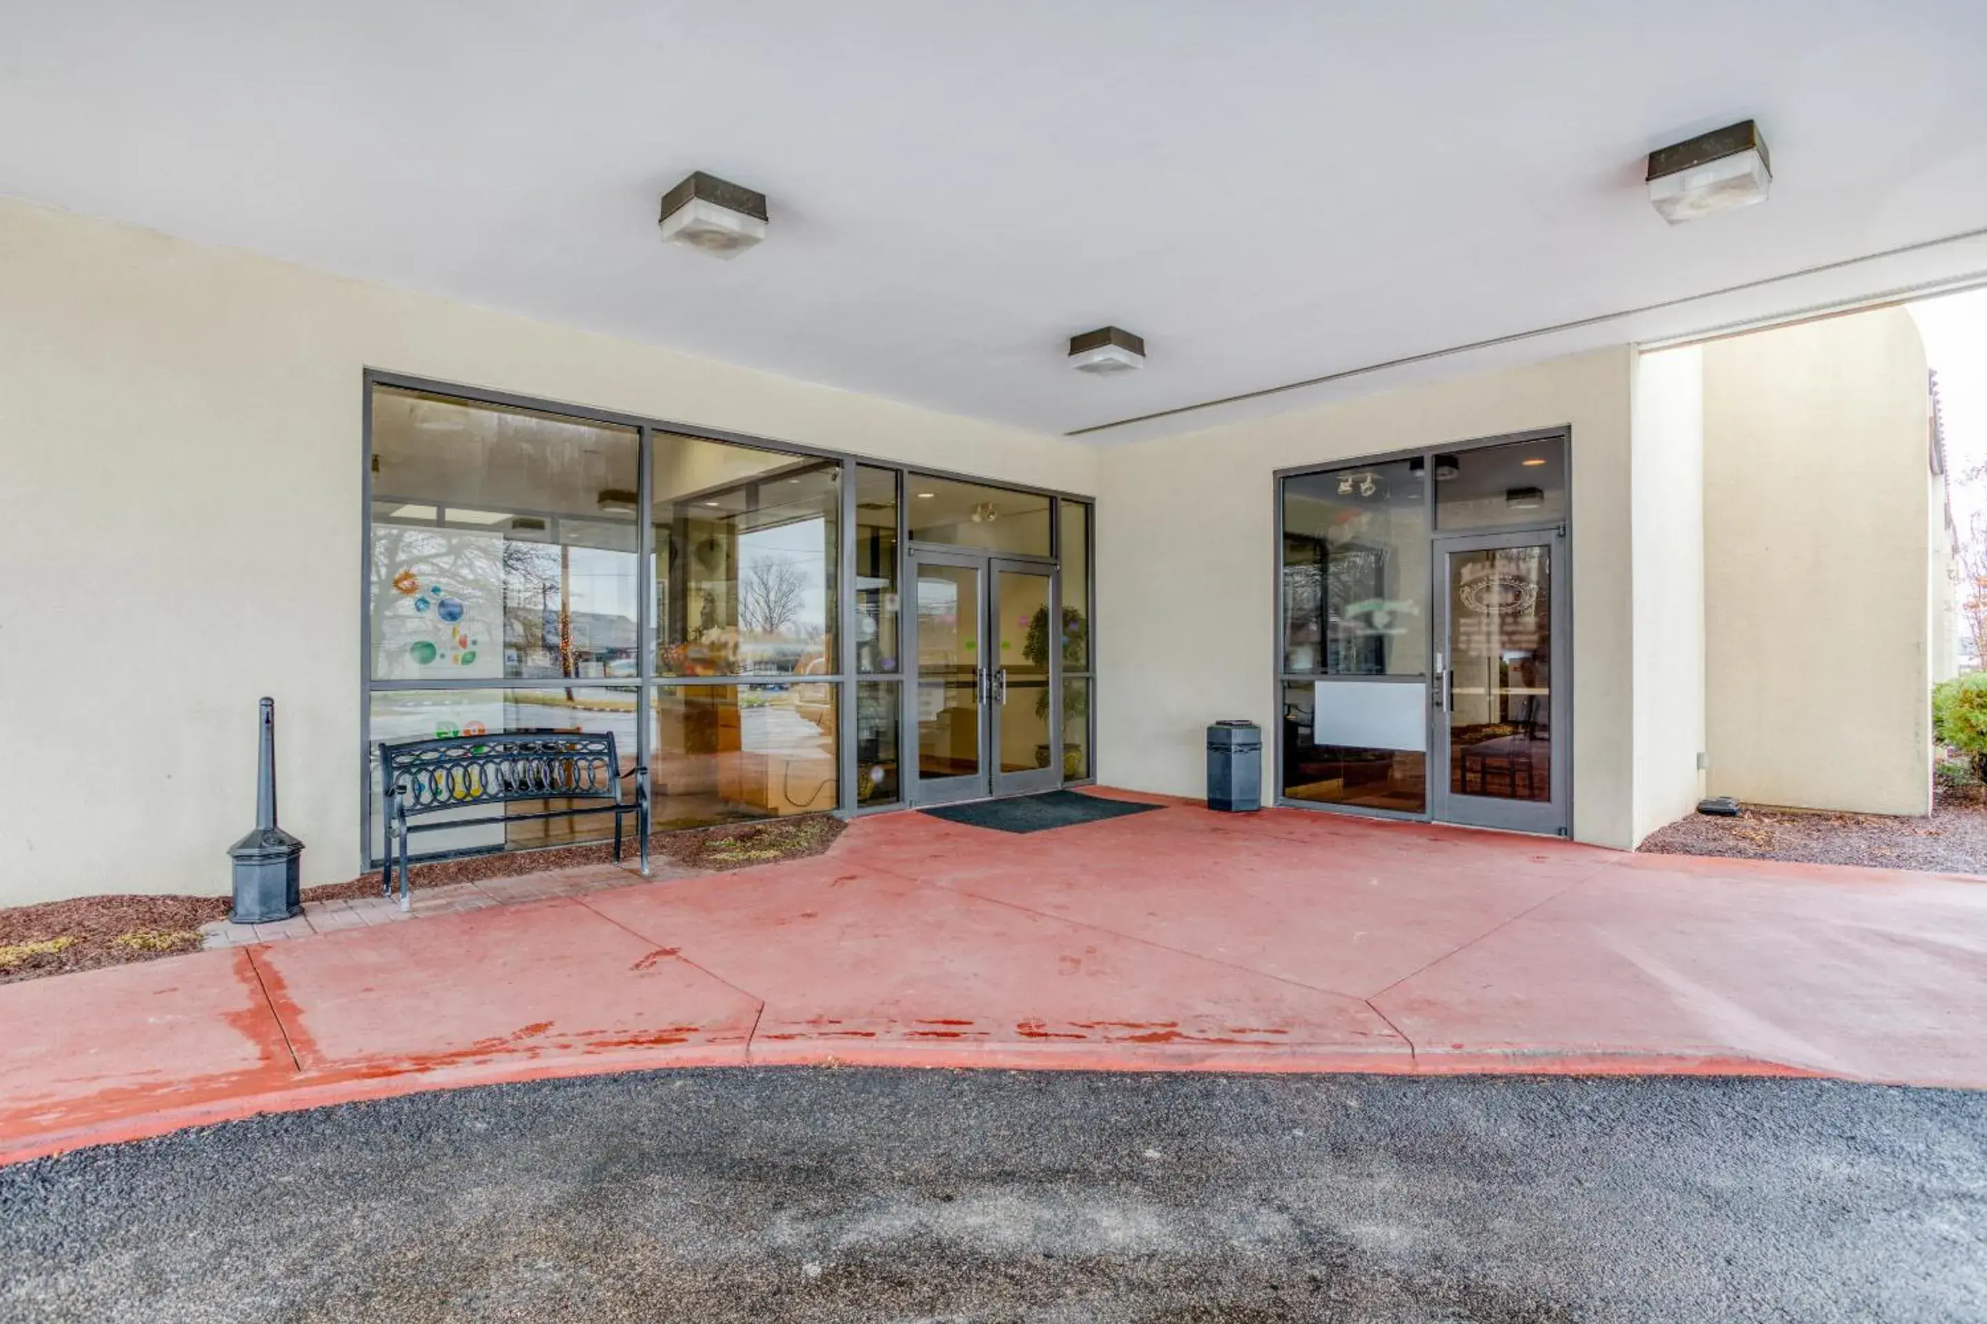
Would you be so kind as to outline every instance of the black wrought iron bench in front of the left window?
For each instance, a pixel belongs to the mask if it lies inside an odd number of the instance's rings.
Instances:
[[[399,909],[409,905],[407,838],[415,832],[612,814],[614,858],[620,860],[622,816],[634,814],[636,832],[642,838],[642,873],[648,873],[648,768],[620,770],[614,732],[513,730],[501,736],[382,742],[380,770],[385,786],[385,865],[380,869],[380,895],[393,895],[393,869],[399,867]],[[622,800],[622,780],[630,776],[634,778],[634,798]],[[600,804],[540,814],[407,822],[415,816],[517,800],[588,800]]]

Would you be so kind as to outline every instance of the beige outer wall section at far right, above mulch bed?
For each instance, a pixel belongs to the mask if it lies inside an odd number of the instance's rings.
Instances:
[[[1705,345],[1709,790],[1925,814],[1925,351],[1904,310]]]

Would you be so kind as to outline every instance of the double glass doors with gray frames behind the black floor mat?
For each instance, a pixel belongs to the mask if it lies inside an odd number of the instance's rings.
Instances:
[[[912,804],[1059,786],[1055,564],[914,548],[910,572]]]

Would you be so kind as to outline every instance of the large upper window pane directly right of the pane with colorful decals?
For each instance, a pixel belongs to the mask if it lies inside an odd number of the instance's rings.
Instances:
[[[841,461],[654,435],[656,673],[835,675]]]

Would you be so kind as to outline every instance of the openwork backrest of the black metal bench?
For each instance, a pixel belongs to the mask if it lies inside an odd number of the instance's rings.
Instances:
[[[380,746],[387,802],[405,812],[459,810],[507,800],[614,800],[614,732],[513,730]]]

